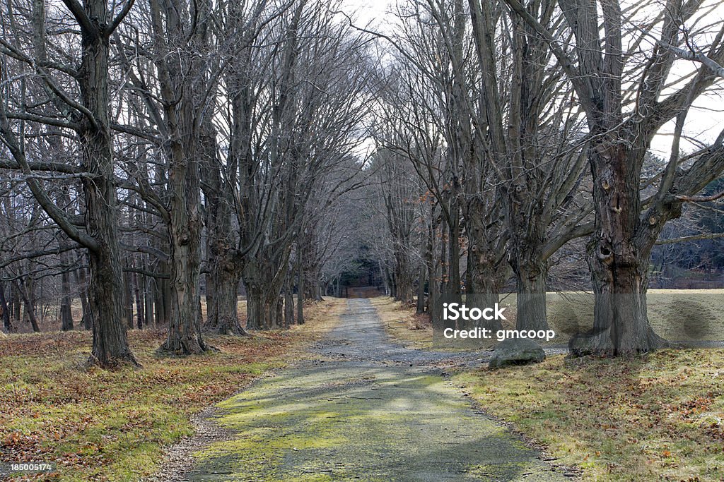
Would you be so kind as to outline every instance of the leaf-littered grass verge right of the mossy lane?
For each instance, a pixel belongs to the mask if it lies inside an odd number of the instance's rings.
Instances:
[[[413,311],[375,301],[388,332],[425,345]],[[654,311],[655,313],[655,311]],[[657,320],[652,319],[656,326]],[[633,360],[551,356],[455,374],[486,413],[591,481],[724,480],[724,350],[660,350]]]

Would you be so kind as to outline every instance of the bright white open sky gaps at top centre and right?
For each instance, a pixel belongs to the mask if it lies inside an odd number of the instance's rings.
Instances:
[[[355,17],[358,25],[366,25],[367,22],[372,22],[373,26],[384,30],[384,25],[387,23],[386,19],[390,17],[390,9],[395,5],[395,2],[396,0],[343,0],[343,8],[349,13],[356,12]],[[710,22],[718,22],[722,19],[724,19],[724,7],[720,7],[715,12],[710,12],[707,15],[707,20]],[[694,64],[693,62],[688,63]],[[696,66],[699,65],[696,64]],[[719,82],[719,85],[724,90],[724,79]],[[673,132],[673,129],[674,123],[670,121],[661,129],[660,135],[654,138],[651,147],[654,154],[668,158],[672,137],[666,134]],[[686,119],[684,135],[709,143],[717,137],[721,129],[724,129],[724,92],[710,92],[700,96],[694,102],[694,107],[691,108]],[[690,152],[696,148],[698,147],[694,144],[682,139],[681,150]]]

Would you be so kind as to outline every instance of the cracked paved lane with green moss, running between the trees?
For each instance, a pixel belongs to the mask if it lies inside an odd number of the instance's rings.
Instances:
[[[570,480],[447,382],[450,353],[390,343],[367,300],[311,358],[219,404],[235,436],[184,480]]]

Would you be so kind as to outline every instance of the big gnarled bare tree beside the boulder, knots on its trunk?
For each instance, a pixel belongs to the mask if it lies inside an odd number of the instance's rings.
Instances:
[[[715,84],[717,72],[704,64],[691,75],[678,74],[673,68],[676,49],[698,44],[707,59],[721,64],[724,27],[696,27],[696,19],[709,11],[700,1],[623,9],[615,0],[561,0],[574,40],[567,49],[526,5],[505,2],[556,56],[588,124],[595,202],[589,246],[595,331],[578,349],[626,355],[656,348],[662,340],[649,326],[646,310],[652,246],[665,223],[680,215],[682,203],[696,199],[724,169],[724,132],[699,152],[679,156],[686,113]],[[656,193],[641,199],[644,158],[654,135],[670,119],[676,119],[677,129],[669,163],[660,173]]]

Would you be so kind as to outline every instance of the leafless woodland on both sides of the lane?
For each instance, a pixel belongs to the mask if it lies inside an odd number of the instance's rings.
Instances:
[[[143,330],[185,366],[345,296],[423,326],[513,293],[548,330],[585,292],[569,356],[671,347],[649,289],[724,288],[724,4],[369,9],[3,0],[0,342],[88,330],[85,369],[143,371]]]

